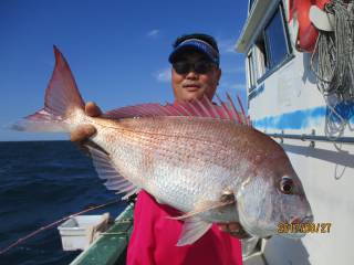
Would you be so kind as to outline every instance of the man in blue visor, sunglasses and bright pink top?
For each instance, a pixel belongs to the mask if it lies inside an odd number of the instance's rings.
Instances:
[[[204,96],[212,99],[221,76],[219,50],[214,38],[206,34],[178,38],[168,61],[173,65],[171,86],[176,104]],[[90,116],[101,115],[93,103],[87,103],[85,112]],[[93,134],[93,126],[81,126],[72,132],[71,140],[80,141]],[[168,216],[178,215],[177,210],[159,204],[140,191],[135,205],[127,264],[242,264],[241,245],[235,236],[242,239],[247,234],[238,223],[214,225],[194,244],[176,246],[183,221]]]

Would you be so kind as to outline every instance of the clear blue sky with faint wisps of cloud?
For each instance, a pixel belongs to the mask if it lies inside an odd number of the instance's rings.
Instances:
[[[173,102],[167,61],[173,42],[181,34],[208,33],[221,52],[218,94],[239,95],[244,103],[244,55],[236,53],[235,44],[247,6],[247,0],[1,0],[0,141],[69,139],[8,129],[43,107],[54,44],[84,100],[110,110]]]

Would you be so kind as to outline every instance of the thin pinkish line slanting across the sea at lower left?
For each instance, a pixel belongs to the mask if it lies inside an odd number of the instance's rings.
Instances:
[[[10,251],[10,250],[13,248],[14,246],[17,246],[17,245],[25,242],[27,240],[33,237],[34,235],[37,235],[37,234],[39,234],[39,233],[41,233],[41,232],[43,232],[43,231],[45,231],[45,230],[49,230],[49,229],[53,227],[54,225],[58,225],[58,224],[66,221],[67,219],[71,219],[71,218],[73,218],[73,216],[76,216],[76,215],[80,215],[80,214],[83,214],[83,213],[86,213],[86,212],[90,212],[90,211],[93,211],[93,210],[97,210],[97,209],[100,209],[100,208],[105,208],[105,206],[108,206],[108,205],[114,204],[114,203],[117,203],[117,202],[119,202],[119,201],[118,201],[118,200],[113,200],[113,201],[108,201],[108,202],[106,202],[106,203],[104,203],[104,204],[100,204],[100,205],[97,205],[97,206],[91,206],[91,208],[85,209],[85,210],[83,210],[83,211],[80,211],[80,212],[76,212],[76,213],[74,213],[74,214],[71,214],[71,215],[67,215],[67,216],[65,216],[65,218],[62,218],[62,219],[60,219],[60,220],[58,220],[58,221],[55,221],[55,222],[53,222],[53,223],[50,223],[50,224],[48,224],[48,225],[45,225],[45,226],[42,226],[42,227],[33,231],[32,233],[30,233],[30,234],[28,234],[28,235],[25,235],[25,236],[17,240],[14,243],[10,244],[9,246],[0,250],[0,255],[1,255],[1,254],[4,254],[4,253],[8,252],[8,251]]]

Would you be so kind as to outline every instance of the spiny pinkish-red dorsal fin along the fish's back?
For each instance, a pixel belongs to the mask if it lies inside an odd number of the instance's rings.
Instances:
[[[232,120],[237,124],[251,126],[246,116],[240,98],[238,103],[241,112],[238,112],[231,97],[227,94],[228,104],[217,95],[218,104],[214,104],[207,97],[186,103],[166,104],[140,104],[113,109],[104,114],[106,118],[122,119],[133,117],[158,117],[158,116],[185,116],[185,117],[209,117],[215,119]]]

